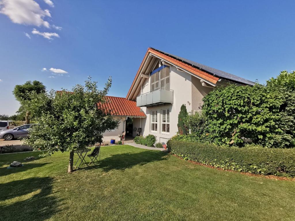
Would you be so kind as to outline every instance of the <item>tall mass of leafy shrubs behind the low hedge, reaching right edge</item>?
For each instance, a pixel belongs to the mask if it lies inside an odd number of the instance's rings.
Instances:
[[[203,113],[214,142],[242,146],[243,138],[250,138],[266,147],[295,146],[294,71],[281,72],[266,86],[217,87],[203,101]]]

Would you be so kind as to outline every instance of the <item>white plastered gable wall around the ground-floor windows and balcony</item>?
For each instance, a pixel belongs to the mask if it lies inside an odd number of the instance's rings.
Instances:
[[[170,89],[173,90],[173,104],[159,105],[154,107],[142,107],[143,112],[146,114],[147,118],[142,118],[142,135],[147,136],[148,134],[153,134],[157,137],[157,142],[166,143],[169,138],[176,135],[178,128],[178,114],[182,104],[186,105],[188,112],[192,110],[192,76],[186,72],[176,70],[176,67],[170,67]],[[147,93],[150,91],[150,79],[143,84],[142,93]],[[188,103],[189,102],[189,103]],[[170,132],[161,132],[161,122],[162,122],[162,109],[170,110]],[[158,110],[158,131],[154,133],[151,131],[151,111]],[[140,121],[140,120],[139,120]],[[134,121],[133,127],[135,127],[135,122],[138,124],[138,120]],[[133,134],[133,135],[136,135]]]

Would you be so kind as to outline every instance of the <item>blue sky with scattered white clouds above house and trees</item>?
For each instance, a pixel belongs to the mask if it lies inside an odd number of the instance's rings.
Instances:
[[[0,0],[0,7],[0,114],[18,110],[12,90],[27,80],[58,90],[89,75],[102,87],[112,76],[109,95],[125,97],[148,47],[260,83],[295,69],[295,1]]]

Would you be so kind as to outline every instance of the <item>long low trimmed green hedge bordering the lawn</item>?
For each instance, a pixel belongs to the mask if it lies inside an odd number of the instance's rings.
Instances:
[[[253,174],[295,177],[295,149],[223,147],[169,140],[168,149],[185,160]]]

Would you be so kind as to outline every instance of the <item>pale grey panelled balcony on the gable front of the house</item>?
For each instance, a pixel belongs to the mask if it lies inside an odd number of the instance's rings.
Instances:
[[[151,107],[168,103],[173,103],[173,90],[158,89],[136,97],[137,107]]]

